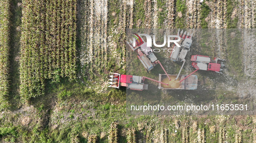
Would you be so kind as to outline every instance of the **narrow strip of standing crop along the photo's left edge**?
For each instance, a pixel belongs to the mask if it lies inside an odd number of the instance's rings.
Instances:
[[[9,92],[9,37],[10,37],[10,0],[0,1],[0,109],[8,105]]]

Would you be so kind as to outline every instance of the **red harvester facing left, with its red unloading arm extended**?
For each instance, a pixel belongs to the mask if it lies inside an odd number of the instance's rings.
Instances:
[[[114,87],[114,88],[119,88],[120,86],[127,87],[127,89],[131,90],[147,90],[148,89],[148,84],[144,84],[145,79],[149,79],[151,81],[156,81],[151,78],[147,77],[141,77],[141,76],[136,76],[136,75],[120,75],[118,73],[110,73],[110,81],[108,87]],[[156,81],[161,84],[160,81]],[[165,84],[168,85],[168,84]]]

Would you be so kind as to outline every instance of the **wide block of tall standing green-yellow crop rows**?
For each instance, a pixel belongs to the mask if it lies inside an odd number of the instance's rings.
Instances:
[[[44,94],[45,79],[76,75],[76,0],[23,0],[22,99]]]

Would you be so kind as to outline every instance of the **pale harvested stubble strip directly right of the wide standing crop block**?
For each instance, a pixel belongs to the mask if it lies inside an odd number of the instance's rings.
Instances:
[[[102,67],[107,64],[107,4],[107,0],[88,0],[83,4],[82,16],[86,22],[82,27],[80,60],[90,79],[102,74]]]

